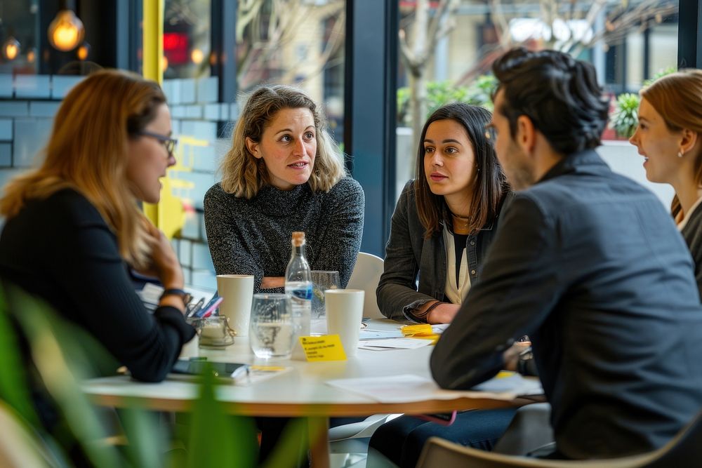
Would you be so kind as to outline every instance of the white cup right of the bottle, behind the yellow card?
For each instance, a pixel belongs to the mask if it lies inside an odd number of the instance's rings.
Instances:
[[[363,319],[362,289],[328,289],[324,291],[326,328],[329,335],[339,335],[347,357],[356,355],[358,333]]]

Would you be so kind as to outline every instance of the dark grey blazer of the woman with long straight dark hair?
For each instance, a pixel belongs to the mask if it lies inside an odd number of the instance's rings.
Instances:
[[[466,240],[471,284],[478,281],[482,261],[496,228],[497,220]],[[413,320],[409,309],[430,300],[444,301],[445,286],[444,236],[439,231],[430,239],[424,239],[424,227],[417,213],[414,180],[410,180],[402,189],[395,213],[392,214],[390,239],[385,246],[385,267],[376,289],[378,307],[388,319]]]

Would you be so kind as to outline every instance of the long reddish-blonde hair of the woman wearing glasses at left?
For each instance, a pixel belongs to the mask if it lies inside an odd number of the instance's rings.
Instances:
[[[126,182],[126,156],[128,140],[165,102],[159,85],[137,74],[103,70],[88,76],[58,109],[44,163],[6,186],[0,214],[12,218],[27,201],[75,189],[117,235],[122,258],[137,268],[147,266],[148,220]]]

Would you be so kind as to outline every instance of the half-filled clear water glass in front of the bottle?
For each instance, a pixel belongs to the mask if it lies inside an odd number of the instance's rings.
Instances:
[[[249,340],[260,358],[288,358],[295,330],[290,298],[285,294],[254,294],[251,303]]]

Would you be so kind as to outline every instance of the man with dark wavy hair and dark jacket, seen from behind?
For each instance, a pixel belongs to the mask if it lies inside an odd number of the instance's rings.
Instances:
[[[663,446],[702,408],[702,308],[663,204],[594,148],[607,100],[585,62],[513,49],[493,66],[490,126],[515,199],[482,281],[431,367],[469,389],[519,364],[529,335],[552,406],[549,457],[618,457]]]

